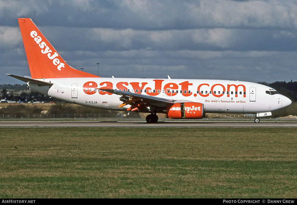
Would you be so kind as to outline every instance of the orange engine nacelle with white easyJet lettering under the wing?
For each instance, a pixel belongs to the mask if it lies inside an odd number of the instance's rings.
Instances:
[[[204,115],[202,103],[184,102],[167,106],[167,118],[169,119],[202,119]]]

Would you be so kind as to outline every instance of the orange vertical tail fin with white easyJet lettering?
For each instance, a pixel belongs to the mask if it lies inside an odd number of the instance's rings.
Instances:
[[[33,79],[99,77],[69,66],[30,18],[18,22]]]

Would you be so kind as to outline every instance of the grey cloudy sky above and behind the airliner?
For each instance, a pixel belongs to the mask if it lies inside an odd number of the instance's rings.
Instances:
[[[293,0],[0,0],[0,84],[30,76],[17,18],[102,77],[297,81]]]

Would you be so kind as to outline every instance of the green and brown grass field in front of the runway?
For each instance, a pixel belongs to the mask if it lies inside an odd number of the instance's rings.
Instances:
[[[296,129],[1,128],[0,140],[0,198],[297,198]]]

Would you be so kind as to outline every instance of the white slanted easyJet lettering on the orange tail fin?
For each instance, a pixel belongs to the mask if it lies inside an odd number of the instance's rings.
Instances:
[[[34,38],[34,41],[38,44],[38,46],[41,49],[42,54],[47,54],[48,59],[53,60],[53,65],[57,66],[57,69],[61,71],[61,68],[64,68],[65,63],[60,62],[60,59],[57,58],[59,55],[55,52],[52,54],[52,50],[46,45],[44,41],[42,41],[42,38],[38,36],[36,31],[31,31],[30,33],[31,37]]]

